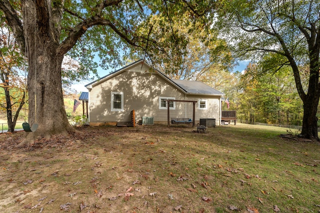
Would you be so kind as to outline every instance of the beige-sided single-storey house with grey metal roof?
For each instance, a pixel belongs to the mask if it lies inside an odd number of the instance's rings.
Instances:
[[[167,122],[167,99],[192,100],[195,122],[215,118],[220,124],[222,92],[199,81],[169,79],[140,59],[85,85],[88,89],[89,124],[116,125],[152,118]],[[192,102],[169,102],[170,117],[192,118]]]

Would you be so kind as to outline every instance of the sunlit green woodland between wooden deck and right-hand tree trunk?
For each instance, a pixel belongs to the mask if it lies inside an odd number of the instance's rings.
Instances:
[[[247,67],[240,78],[240,119],[250,122],[302,124],[302,101],[290,68],[265,70],[263,64]]]

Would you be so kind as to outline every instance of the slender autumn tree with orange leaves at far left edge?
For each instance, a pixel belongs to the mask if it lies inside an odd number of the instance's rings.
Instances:
[[[0,12],[0,18],[2,15]],[[27,69],[26,61],[4,21],[0,22],[0,41],[0,111],[5,112],[8,130],[13,131],[27,96],[25,81],[20,77]]]

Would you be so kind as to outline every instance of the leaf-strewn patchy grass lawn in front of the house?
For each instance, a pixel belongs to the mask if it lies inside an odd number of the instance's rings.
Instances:
[[[284,128],[78,130],[22,148],[0,134],[0,212],[320,211],[320,144]]]

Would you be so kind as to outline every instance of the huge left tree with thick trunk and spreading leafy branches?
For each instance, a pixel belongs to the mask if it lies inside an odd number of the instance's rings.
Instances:
[[[209,1],[201,0],[0,0],[0,9],[11,27],[21,52],[28,60],[27,88],[30,124],[38,123],[36,136],[49,137],[74,129],[68,123],[61,86],[61,64],[65,54],[80,61],[83,73],[96,68],[95,52],[101,66],[118,64],[127,50],[145,52],[151,60],[163,53],[177,63],[185,52],[186,39],[163,24],[154,30],[151,17],[164,22],[183,17],[195,22],[205,19]],[[153,31],[154,30],[154,31]],[[156,33],[154,33],[156,32]],[[152,36],[151,36],[152,35]],[[164,57],[163,57],[164,58]],[[54,102],[54,104],[50,104]],[[56,125],[59,123],[59,125]]]

